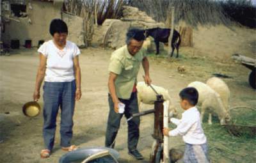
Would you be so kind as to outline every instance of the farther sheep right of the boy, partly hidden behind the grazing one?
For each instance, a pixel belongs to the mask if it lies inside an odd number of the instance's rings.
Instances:
[[[207,84],[207,86],[214,89],[214,91],[219,93],[222,104],[224,105],[225,109],[228,110],[229,109],[228,103],[229,103],[229,99],[230,99],[230,91],[228,89],[227,84],[218,77],[211,77],[210,79],[208,79],[206,84]]]

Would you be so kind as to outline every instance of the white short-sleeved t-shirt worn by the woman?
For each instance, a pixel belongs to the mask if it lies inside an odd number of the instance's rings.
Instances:
[[[75,79],[73,58],[81,53],[75,43],[67,41],[65,48],[60,50],[49,40],[38,52],[47,58],[45,81],[70,82]]]

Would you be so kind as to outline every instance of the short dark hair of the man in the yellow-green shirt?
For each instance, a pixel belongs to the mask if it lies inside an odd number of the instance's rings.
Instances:
[[[126,43],[129,45],[131,40],[134,39],[138,42],[145,40],[144,31],[138,28],[130,28],[126,33]]]

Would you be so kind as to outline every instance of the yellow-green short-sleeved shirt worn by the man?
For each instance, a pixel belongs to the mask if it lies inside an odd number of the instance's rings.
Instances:
[[[147,49],[142,47],[140,51],[132,56],[127,49],[127,45],[111,54],[109,72],[118,75],[115,81],[118,98],[129,99],[131,97],[134,82],[137,82],[141,61],[146,55]]]

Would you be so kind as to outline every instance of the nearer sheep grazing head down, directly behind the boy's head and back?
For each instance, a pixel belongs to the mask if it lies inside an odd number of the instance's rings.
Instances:
[[[207,86],[203,82],[191,82],[188,87],[196,88],[199,94],[198,106],[201,106],[201,120],[204,118],[206,109],[209,109],[209,119],[208,123],[212,124],[211,113],[218,114],[221,125],[225,125],[231,120],[230,114],[226,114],[226,109],[221,102],[220,95],[214,91],[211,87]]]

